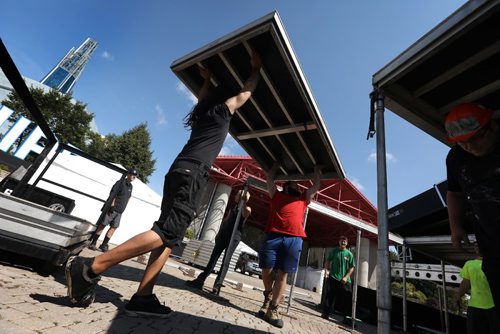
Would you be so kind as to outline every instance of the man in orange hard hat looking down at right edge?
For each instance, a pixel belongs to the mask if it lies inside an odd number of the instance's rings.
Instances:
[[[464,228],[466,204],[495,305],[500,305],[500,127],[493,111],[477,104],[456,106],[446,117],[448,140],[456,143],[446,158],[448,216],[453,246],[469,243]],[[500,307],[495,307],[500,315]]]

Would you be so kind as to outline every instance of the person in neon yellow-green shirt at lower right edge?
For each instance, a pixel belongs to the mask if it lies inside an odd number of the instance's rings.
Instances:
[[[467,333],[500,333],[500,319],[495,313],[495,304],[491,296],[488,280],[481,265],[483,259],[476,249],[478,256],[474,260],[465,262],[460,276],[462,283],[458,288],[458,298],[470,290],[470,299],[467,307]]]

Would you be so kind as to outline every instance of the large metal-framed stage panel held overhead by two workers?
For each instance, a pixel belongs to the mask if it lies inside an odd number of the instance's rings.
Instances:
[[[262,58],[261,80],[233,116],[230,133],[262,166],[280,163],[276,179],[310,179],[321,165],[324,179],[345,172],[311,89],[277,12],[270,13],[174,61],[174,73],[196,96],[203,79],[198,66],[209,68],[212,84],[224,83],[235,94],[251,68],[253,51]]]

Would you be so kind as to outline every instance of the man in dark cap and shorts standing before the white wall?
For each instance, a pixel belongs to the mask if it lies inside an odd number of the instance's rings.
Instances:
[[[106,200],[106,203],[111,201],[111,206],[108,209],[108,212],[104,215],[104,220],[98,224],[97,230],[92,236],[91,243],[89,248],[92,250],[97,250],[96,242],[97,239],[101,236],[102,231],[106,226],[109,225],[109,230],[104,237],[102,244],[99,246],[99,249],[103,252],[108,251],[109,239],[113,236],[118,226],[120,226],[120,219],[122,218],[122,213],[125,211],[127,207],[130,196],[132,196],[132,181],[137,177],[137,171],[135,169],[128,169],[127,177],[124,180],[118,180],[111,188],[109,193],[109,197]],[[104,207],[103,207],[104,209]]]

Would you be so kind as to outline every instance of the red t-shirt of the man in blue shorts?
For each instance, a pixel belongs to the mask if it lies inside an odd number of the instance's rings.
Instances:
[[[265,232],[305,238],[304,213],[308,205],[309,201],[305,194],[292,197],[282,191],[277,191],[271,199],[271,210]]]

